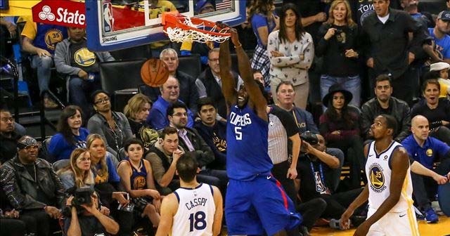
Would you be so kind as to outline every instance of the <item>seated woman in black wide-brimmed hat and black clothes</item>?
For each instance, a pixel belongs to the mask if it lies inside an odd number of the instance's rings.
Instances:
[[[360,136],[360,114],[349,107],[352,93],[330,86],[323,97],[323,105],[328,109],[320,117],[319,130],[329,147],[336,147],[345,153],[345,161],[350,165],[351,188],[361,187],[361,169],[364,167],[363,141]]]

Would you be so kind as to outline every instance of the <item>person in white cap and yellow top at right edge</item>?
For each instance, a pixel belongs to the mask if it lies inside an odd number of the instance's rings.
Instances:
[[[439,98],[450,99],[450,79],[449,79],[449,63],[439,62],[430,65],[430,72],[425,74],[426,79],[437,79],[441,87]]]

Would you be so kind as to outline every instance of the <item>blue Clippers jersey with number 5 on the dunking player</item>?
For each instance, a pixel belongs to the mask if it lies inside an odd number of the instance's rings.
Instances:
[[[226,173],[229,178],[251,181],[259,174],[270,173],[268,151],[269,124],[247,105],[231,107],[226,125]]]

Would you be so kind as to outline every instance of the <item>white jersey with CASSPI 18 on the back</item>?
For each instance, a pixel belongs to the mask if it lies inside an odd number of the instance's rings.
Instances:
[[[179,204],[172,235],[212,235],[216,206],[211,185],[200,183],[194,189],[179,188],[174,194]]]

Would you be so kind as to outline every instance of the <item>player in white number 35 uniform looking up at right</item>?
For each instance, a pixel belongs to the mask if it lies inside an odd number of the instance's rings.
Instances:
[[[342,228],[349,228],[354,209],[368,199],[367,220],[354,235],[418,235],[411,198],[410,159],[400,143],[392,140],[397,122],[388,114],[375,117],[369,133],[375,141],[364,147],[368,183],[342,214]]]

